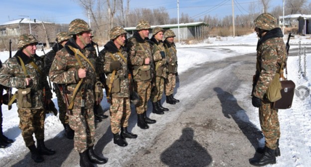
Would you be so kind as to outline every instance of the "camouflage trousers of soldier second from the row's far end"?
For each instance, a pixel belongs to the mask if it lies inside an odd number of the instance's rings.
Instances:
[[[164,91],[164,78],[155,77],[155,81],[153,81],[153,88],[151,90],[151,101],[156,102],[161,100]]]

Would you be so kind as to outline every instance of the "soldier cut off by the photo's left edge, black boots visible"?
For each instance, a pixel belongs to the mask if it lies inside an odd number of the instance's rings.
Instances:
[[[2,62],[0,60],[0,68],[2,67]],[[0,148],[6,148],[8,144],[13,143],[12,139],[7,138],[4,136],[2,131],[2,103],[3,103],[3,89],[6,88],[0,84]],[[7,102],[7,100],[6,100]]]

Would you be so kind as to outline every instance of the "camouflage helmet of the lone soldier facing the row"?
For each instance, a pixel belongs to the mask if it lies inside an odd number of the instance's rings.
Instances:
[[[255,20],[255,26],[263,30],[272,30],[277,27],[277,18],[270,13],[262,13]]]

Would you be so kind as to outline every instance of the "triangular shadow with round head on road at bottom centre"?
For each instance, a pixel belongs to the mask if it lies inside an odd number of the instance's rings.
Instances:
[[[182,135],[160,156],[168,167],[206,167],[212,162],[212,157],[195,140],[193,129],[184,128]]]

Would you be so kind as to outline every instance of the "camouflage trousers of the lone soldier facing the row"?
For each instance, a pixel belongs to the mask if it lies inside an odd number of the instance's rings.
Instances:
[[[259,107],[259,120],[266,139],[265,145],[270,149],[276,149],[277,140],[280,138],[280,122],[278,110],[272,108],[270,101],[262,101],[262,106]]]

